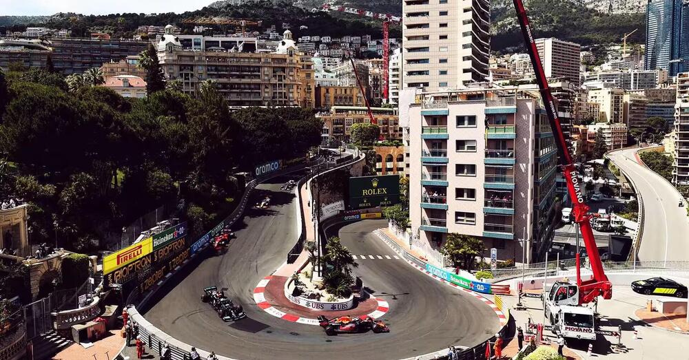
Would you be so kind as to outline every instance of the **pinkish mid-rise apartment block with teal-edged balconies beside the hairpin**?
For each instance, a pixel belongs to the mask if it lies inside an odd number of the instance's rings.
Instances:
[[[411,233],[433,248],[448,233],[478,237],[499,259],[524,245],[530,262],[547,250],[557,150],[533,92],[421,94],[409,121]]]

